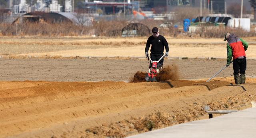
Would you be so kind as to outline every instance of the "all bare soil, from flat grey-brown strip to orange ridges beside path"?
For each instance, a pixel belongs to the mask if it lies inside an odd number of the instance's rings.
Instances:
[[[164,61],[178,67],[180,79],[208,79],[225,62]],[[247,108],[256,100],[255,62],[248,60],[244,91],[228,86],[234,83],[226,77],[232,76],[232,65],[210,83],[125,83],[113,81],[127,82],[136,71],[147,70],[146,60],[1,59],[1,79],[9,81],[0,82],[0,137],[124,137],[207,118],[205,105]],[[112,81],[84,82],[102,80]]]

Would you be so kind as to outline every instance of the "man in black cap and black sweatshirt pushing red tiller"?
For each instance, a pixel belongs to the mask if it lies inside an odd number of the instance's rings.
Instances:
[[[150,49],[150,58],[152,61],[158,61],[163,53],[164,53],[164,47],[165,47],[165,54],[166,56],[168,56],[168,52],[169,52],[169,46],[168,46],[168,42],[166,41],[166,39],[164,38],[164,36],[159,35],[159,30],[158,28],[154,27],[152,29],[152,33],[153,35],[151,35],[150,37],[148,37],[148,41],[146,43],[146,48],[145,48],[145,54],[146,57],[148,57],[148,50],[151,46]],[[164,63],[164,58],[162,58],[159,63],[161,64],[160,70],[162,70],[163,67],[163,63]]]

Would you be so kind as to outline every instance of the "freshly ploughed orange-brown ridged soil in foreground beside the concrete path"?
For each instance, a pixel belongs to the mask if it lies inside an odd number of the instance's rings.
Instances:
[[[124,137],[206,118],[203,107],[242,109],[256,100],[256,80],[0,82],[0,137]]]

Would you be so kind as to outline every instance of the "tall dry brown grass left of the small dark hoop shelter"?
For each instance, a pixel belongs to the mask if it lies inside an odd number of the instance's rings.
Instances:
[[[125,21],[99,21],[94,22],[93,26],[76,26],[74,24],[51,24],[51,23],[31,23],[24,24],[0,24],[2,36],[120,36]],[[85,31],[84,31],[85,30]]]

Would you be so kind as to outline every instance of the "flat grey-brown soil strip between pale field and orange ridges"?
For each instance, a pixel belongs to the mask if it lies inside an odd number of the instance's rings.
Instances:
[[[146,59],[0,59],[2,81],[125,81],[137,71],[148,71]],[[208,79],[226,60],[164,59],[175,65],[180,79]],[[246,75],[256,77],[256,60],[247,60]],[[233,76],[232,65],[217,77]]]

